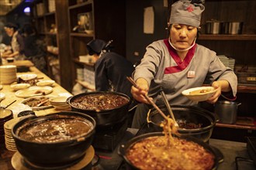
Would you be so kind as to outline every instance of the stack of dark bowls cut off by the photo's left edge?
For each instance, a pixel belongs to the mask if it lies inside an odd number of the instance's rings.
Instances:
[[[5,143],[5,130],[4,124],[5,122],[11,120],[13,118],[12,110],[9,109],[0,109],[0,144]]]

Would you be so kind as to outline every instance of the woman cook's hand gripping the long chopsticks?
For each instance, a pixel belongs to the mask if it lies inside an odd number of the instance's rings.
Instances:
[[[144,80],[144,78],[139,78],[136,80],[137,87],[131,88],[131,93],[133,95],[133,98],[141,103],[144,104],[150,104],[147,99],[144,97],[144,95],[147,95],[148,92],[148,83],[147,80]]]

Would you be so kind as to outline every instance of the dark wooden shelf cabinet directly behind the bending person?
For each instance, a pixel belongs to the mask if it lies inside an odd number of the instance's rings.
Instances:
[[[124,1],[100,1],[88,0],[69,1],[68,7],[69,35],[71,50],[71,67],[73,83],[81,83],[89,90],[92,88],[93,75],[87,79],[78,80],[78,70],[85,73],[94,70],[92,63],[79,60],[79,56],[88,55],[86,44],[92,39],[102,39],[108,42],[113,40],[115,52],[125,55],[126,53],[126,10]],[[87,75],[85,75],[87,76]],[[93,77],[92,77],[93,76]],[[88,84],[88,82],[91,82]]]

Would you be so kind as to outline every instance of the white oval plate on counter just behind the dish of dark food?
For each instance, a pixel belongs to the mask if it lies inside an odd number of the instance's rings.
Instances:
[[[28,98],[35,96],[43,96],[51,93],[53,91],[53,87],[29,87],[24,90],[16,91],[16,97]]]

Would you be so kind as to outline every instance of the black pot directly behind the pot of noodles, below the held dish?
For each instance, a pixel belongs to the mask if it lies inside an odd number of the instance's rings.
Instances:
[[[169,115],[167,108],[164,105],[159,106],[159,108],[164,112],[164,114]],[[175,115],[175,120],[178,124],[180,123],[192,123],[192,124],[201,124],[200,128],[178,128],[180,134],[186,134],[195,138],[199,138],[204,142],[208,142],[209,138],[213,133],[213,128],[215,127],[218,118],[216,114],[204,110],[200,107],[195,106],[186,106],[186,105],[173,105],[171,110]],[[153,131],[163,131],[163,128],[160,127],[164,118],[157,110],[152,109],[149,115],[149,121],[153,128]]]

